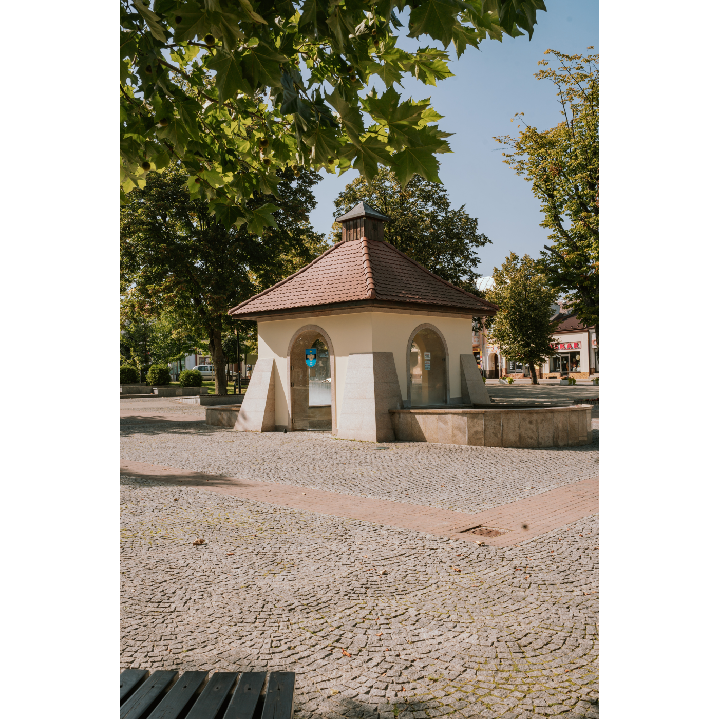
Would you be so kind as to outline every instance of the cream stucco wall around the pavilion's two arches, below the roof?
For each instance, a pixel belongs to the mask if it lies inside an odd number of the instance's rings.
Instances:
[[[293,335],[306,325],[321,327],[334,349],[336,377],[332,377],[337,421],[342,413],[344,380],[350,354],[392,352],[403,400],[407,399],[407,344],[421,324],[435,326],[444,336],[449,362],[449,396],[459,398],[459,355],[472,354],[472,320],[395,312],[357,312],[324,316],[278,319],[257,323],[257,354],[275,359],[275,423],[287,425],[289,376],[288,349]]]

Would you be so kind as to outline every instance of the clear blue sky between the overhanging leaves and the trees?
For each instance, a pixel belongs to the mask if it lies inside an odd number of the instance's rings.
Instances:
[[[546,230],[539,226],[539,201],[531,185],[519,178],[502,162],[502,151],[492,137],[512,134],[510,118],[524,112],[524,119],[539,129],[553,127],[561,119],[554,88],[549,81],[533,78],[537,61],[551,47],[559,52],[585,52],[587,46],[599,47],[598,0],[546,0],[548,12],[537,13],[538,24],[532,40],[526,36],[505,37],[503,42],[484,40],[480,50],[469,47],[449,68],[453,78],[425,86],[417,81],[403,81],[403,97],[415,99],[431,95],[436,111],[444,115],[439,127],[454,132],[449,138],[453,154],[440,155],[439,176],[449,191],[452,206],[467,205],[467,211],[478,219],[478,229],[493,244],[480,248],[482,275],[490,275],[509,252],[528,252],[539,257],[546,242]],[[406,32],[408,12],[400,19]],[[426,46],[402,37],[400,47],[410,50]],[[449,47],[455,58],[454,48]],[[384,90],[376,81],[377,90]],[[350,170],[342,177],[322,173],[324,180],[315,186],[317,208],[311,221],[318,232],[329,233],[334,198],[344,186],[357,177]]]

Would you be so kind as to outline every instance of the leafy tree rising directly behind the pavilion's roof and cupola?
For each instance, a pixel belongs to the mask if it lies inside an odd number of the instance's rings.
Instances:
[[[491,240],[477,232],[477,219],[464,205],[453,210],[446,189],[415,175],[403,188],[396,173],[380,168],[371,183],[360,176],[345,186],[334,201],[335,217],[363,201],[390,218],[385,224],[385,240],[409,255],[443,280],[475,295],[473,269],[480,262],[475,248]],[[334,242],[342,238],[335,225]]]

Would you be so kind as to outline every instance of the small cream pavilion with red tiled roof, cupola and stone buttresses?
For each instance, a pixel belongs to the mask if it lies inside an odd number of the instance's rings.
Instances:
[[[472,317],[496,306],[385,242],[390,218],[360,202],[342,241],[233,307],[257,321],[257,362],[234,429],[395,439],[389,411],[489,403]]]

